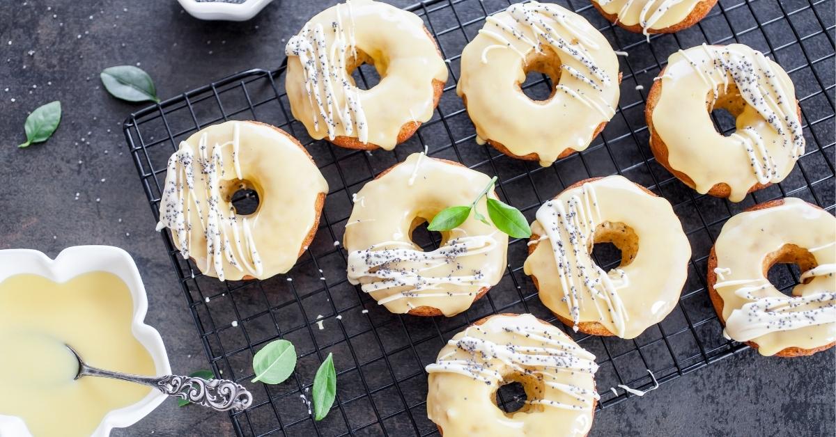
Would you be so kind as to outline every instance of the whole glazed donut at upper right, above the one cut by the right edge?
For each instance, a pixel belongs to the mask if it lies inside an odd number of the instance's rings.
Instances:
[[[716,108],[737,117],[732,135],[711,123]],[[742,44],[671,54],[645,109],[656,160],[699,193],[731,201],[789,175],[804,153],[800,118],[787,73]]]

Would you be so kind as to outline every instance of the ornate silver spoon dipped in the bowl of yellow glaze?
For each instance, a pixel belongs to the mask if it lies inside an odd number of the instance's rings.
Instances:
[[[190,376],[139,376],[129,373],[111,372],[101,368],[90,367],[84,363],[78,352],[65,345],[79,361],[79,373],[74,379],[83,376],[98,376],[104,378],[121,379],[136,384],[143,384],[160,390],[162,393],[175,398],[186,399],[192,404],[203,405],[217,411],[241,411],[252,404],[252,394],[241,384],[228,379],[202,379]]]

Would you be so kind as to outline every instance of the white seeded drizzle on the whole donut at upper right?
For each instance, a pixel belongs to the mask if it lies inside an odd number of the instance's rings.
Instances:
[[[742,99],[761,114],[763,120],[782,138],[782,148],[792,160],[804,153],[804,136],[795,109],[795,99],[783,89],[763,53],[752,50],[753,56],[730,48],[716,48],[702,44],[711,65],[707,69],[698,65],[688,54],[679,53],[694,68],[700,78],[719,98],[720,86],[726,90],[729,78],[737,85]],[[670,77],[670,76],[669,76]],[[746,150],[752,171],[758,183],[776,183],[783,179],[772,155],[769,154],[757,130],[746,128],[731,135]]]

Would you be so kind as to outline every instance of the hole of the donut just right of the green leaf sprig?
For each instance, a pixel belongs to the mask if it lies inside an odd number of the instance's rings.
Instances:
[[[639,252],[639,236],[620,221],[604,221],[595,228],[589,254],[604,270],[627,267]]]

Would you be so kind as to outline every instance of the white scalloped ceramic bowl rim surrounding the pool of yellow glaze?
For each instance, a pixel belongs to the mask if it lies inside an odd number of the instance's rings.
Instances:
[[[54,260],[41,252],[28,249],[9,249],[0,251],[0,282],[19,273],[33,273],[47,277],[54,282],[66,282],[86,272],[110,272],[120,277],[130,289],[134,300],[134,318],[131,331],[154,360],[158,375],[171,373],[166,346],[160,333],[145,324],[148,311],[148,297],[142,285],[140,272],[136,270],[134,260],[119,247],[113,246],[74,246],[64,249]],[[110,429],[125,428],[135,424],[166,399],[159,390],[151,390],[142,400],[125,408],[115,409],[104,415],[101,424],[93,433],[94,437],[106,437]],[[18,437],[32,435],[23,419],[0,415],[0,435]]]

